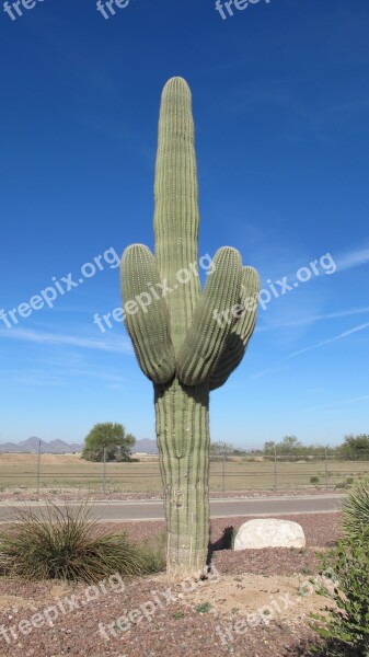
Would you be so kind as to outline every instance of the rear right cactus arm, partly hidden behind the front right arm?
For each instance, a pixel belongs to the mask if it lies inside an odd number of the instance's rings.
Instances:
[[[210,377],[210,390],[216,390],[226,383],[245,354],[256,323],[258,290],[257,272],[253,267],[243,267],[241,306],[244,312],[237,319],[227,337],[222,355]]]

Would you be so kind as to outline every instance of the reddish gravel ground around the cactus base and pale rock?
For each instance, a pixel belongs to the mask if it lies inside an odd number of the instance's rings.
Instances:
[[[307,614],[324,600],[312,595],[301,604],[298,585],[318,573],[315,548],[326,548],[337,537],[339,515],[289,519],[302,525],[307,550],[221,550],[229,519],[214,520],[212,556],[219,581],[183,583],[169,590],[163,575],[127,583],[113,578],[97,588],[2,578],[0,657],[307,656],[307,645],[316,641]],[[232,518],[233,527],[243,520]],[[108,527],[142,540],[152,539],[163,523]],[[270,596],[278,599],[282,595],[291,596],[295,607],[280,608],[275,616],[257,611]]]

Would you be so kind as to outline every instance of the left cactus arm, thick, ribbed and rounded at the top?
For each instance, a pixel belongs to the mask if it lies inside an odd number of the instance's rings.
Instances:
[[[128,246],[120,264],[125,324],[142,372],[154,383],[166,383],[174,377],[175,360],[160,285],[150,250],[142,244]]]

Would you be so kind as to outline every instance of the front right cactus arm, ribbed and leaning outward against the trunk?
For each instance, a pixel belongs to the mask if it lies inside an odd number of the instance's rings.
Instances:
[[[212,262],[215,270],[208,275],[178,355],[177,377],[185,385],[199,385],[211,374],[234,321],[232,308],[240,298],[242,264],[239,252],[224,246],[219,249]],[[223,313],[228,321],[221,321]]]

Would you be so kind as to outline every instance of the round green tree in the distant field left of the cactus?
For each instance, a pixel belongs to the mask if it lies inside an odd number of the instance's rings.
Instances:
[[[84,438],[82,459],[103,461],[105,449],[106,461],[130,461],[130,449],[135,442],[135,436],[127,434],[120,424],[111,422],[95,424]]]

